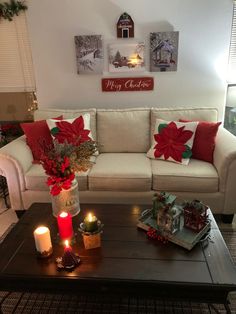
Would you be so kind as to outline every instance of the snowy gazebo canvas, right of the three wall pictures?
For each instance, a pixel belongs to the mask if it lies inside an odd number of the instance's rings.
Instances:
[[[179,32],[150,33],[150,71],[177,71]]]

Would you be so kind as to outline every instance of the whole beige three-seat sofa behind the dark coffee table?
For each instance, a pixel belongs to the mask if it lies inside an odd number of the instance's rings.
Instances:
[[[154,191],[169,191],[183,199],[199,199],[214,213],[236,212],[236,138],[220,127],[214,164],[191,159],[188,166],[146,157],[156,118],[217,121],[214,108],[195,109],[41,109],[35,120],[88,112],[99,144],[92,169],[78,176],[81,203],[150,204]],[[22,136],[0,149],[0,173],[7,178],[12,208],[27,209],[33,202],[49,202],[46,176],[32,164]]]

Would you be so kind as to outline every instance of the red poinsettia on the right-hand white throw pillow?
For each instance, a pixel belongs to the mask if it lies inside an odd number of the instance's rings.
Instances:
[[[191,156],[191,150],[186,143],[192,135],[192,131],[185,130],[185,126],[178,128],[174,122],[160,125],[159,133],[154,134],[157,142],[154,147],[154,156],[156,158],[164,156],[166,160],[171,157],[181,162],[182,158]]]

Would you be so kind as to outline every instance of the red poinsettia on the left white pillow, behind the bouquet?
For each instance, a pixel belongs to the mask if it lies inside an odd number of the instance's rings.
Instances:
[[[88,136],[90,131],[84,129],[84,119],[82,116],[75,119],[72,123],[58,121],[56,125],[58,132],[54,136],[59,143],[64,143],[66,140],[68,143],[80,145],[83,142],[91,140]]]

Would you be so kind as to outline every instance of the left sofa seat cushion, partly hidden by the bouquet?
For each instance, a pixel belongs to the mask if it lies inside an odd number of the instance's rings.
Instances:
[[[76,175],[76,179],[79,184],[79,191],[87,190],[88,173],[82,172]],[[46,184],[47,176],[41,165],[32,165],[25,174],[25,185],[28,190],[37,191],[49,191],[49,187]]]

